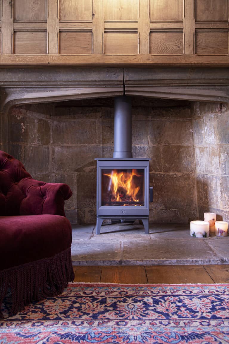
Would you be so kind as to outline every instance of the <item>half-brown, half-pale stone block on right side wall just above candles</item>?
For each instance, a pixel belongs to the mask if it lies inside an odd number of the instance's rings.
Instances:
[[[200,205],[220,208],[220,176],[197,174],[197,197]]]

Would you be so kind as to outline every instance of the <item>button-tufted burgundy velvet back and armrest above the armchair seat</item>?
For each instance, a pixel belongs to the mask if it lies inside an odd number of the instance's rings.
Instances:
[[[0,151],[0,216],[65,216],[64,200],[71,195],[67,184],[37,181],[19,160]]]

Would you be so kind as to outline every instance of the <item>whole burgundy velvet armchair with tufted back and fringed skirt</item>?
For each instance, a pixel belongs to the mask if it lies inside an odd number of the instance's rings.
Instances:
[[[67,184],[34,180],[23,164],[0,151],[0,318],[5,295],[10,314],[33,300],[61,293],[74,279]]]

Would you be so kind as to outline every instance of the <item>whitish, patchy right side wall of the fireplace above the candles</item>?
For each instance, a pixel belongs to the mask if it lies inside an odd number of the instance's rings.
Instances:
[[[229,108],[193,103],[199,219],[204,212],[229,222]]]

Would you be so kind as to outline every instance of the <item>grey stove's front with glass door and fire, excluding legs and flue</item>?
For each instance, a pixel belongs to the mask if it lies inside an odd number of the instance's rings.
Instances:
[[[97,215],[149,215],[149,161],[97,160]]]

